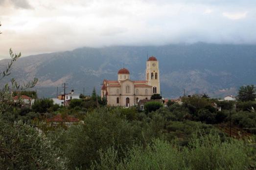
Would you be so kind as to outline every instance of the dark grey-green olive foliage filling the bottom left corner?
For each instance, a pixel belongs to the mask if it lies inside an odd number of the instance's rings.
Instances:
[[[20,122],[0,120],[0,169],[67,169],[60,149],[36,129]]]

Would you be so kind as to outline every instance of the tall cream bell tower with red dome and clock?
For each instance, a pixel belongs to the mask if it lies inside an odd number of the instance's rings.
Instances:
[[[156,57],[151,56],[147,60],[146,81],[152,86],[153,94],[160,94],[160,72]]]

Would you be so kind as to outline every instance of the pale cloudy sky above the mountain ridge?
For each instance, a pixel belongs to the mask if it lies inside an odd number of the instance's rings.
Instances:
[[[0,59],[78,47],[256,44],[256,0],[0,0]]]

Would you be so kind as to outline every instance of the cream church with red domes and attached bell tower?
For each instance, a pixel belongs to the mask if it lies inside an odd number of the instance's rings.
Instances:
[[[106,98],[108,106],[135,106],[153,94],[160,94],[159,63],[153,56],[146,62],[145,80],[132,81],[129,70],[121,68],[117,80],[104,80],[101,88],[101,98]]]

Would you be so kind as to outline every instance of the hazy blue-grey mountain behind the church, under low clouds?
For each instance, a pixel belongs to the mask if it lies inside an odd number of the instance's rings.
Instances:
[[[256,84],[256,45],[207,43],[84,47],[28,56],[17,61],[11,77],[20,82],[37,77],[36,89],[41,97],[56,96],[57,86],[62,91],[64,82],[68,91],[83,93],[85,87],[86,93],[91,93],[95,86],[99,93],[103,79],[116,80],[123,65],[130,70],[132,80],[144,80],[147,52],[160,62],[164,97],[179,97],[184,89],[188,94],[222,97],[234,94],[241,85]],[[0,61],[1,70],[6,63]]]

